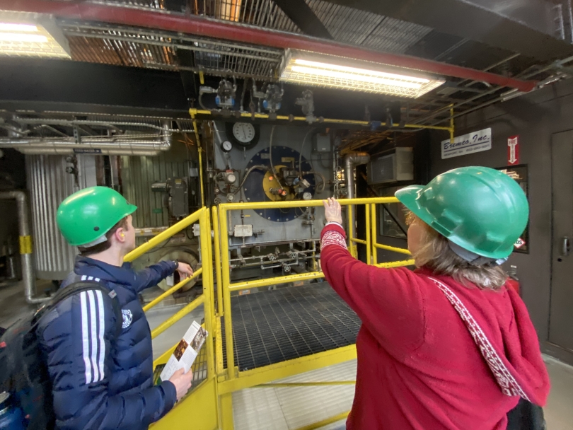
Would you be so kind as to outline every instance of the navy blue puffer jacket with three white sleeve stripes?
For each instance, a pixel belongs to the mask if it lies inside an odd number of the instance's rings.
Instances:
[[[80,279],[103,282],[117,296],[84,291],[40,320],[58,429],[147,429],[175,405],[175,385],[153,385],[151,332],[137,296],[174,271],[174,262],[135,272],[129,263],[76,258]],[[121,324],[112,300],[121,308]]]

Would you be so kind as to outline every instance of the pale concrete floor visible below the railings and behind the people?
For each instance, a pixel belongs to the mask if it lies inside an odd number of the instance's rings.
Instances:
[[[39,285],[39,291],[49,287]],[[152,309],[148,313],[151,329],[180,310],[182,306]],[[0,326],[6,327],[21,315],[37,306],[25,303],[21,284],[0,284]],[[154,359],[177,343],[193,320],[201,322],[202,308],[186,315],[178,323],[154,339]],[[551,377],[552,390],[545,418],[549,430],[573,430],[573,367],[545,356]],[[356,375],[356,361],[322,368],[287,378],[284,382],[320,380],[352,380]],[[346,412],[352,406],[353,385],[335,385],[313,388],[250,388],[233,393],[235,428],[291,430]],[[257,405],[256,409],[253,405]],[[323,430],[345,429],[344,421],[332,423]]]

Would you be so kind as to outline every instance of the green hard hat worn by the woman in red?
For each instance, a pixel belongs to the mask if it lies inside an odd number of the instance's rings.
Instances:
[[[511,254],[529,216],[519,184],[485,167],[450,170],[426,186],[398,190],[396,197],[451,242],[492,259]]]

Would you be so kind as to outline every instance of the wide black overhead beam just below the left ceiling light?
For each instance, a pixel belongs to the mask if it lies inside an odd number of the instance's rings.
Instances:
[[[0,100],[189,108],[178,73],[57,59],[4,57]]]

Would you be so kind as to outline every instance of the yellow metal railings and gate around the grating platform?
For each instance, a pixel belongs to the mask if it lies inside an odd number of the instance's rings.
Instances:
[[[398,200],[394,197],[376,197],[372,199],[342,199],[340,203],[343,206],[355,206],[364,204],[366,208],[366,238],[359,239],[352,236],[352,228],[349,231],[349,250],[352,255],[356,257],[356,245],[361,243],[366,245],[366,261],[370,265],[378,267],[399,267],[412,265],[413,260],[400,260],[395,262],[378,263],[376,258],[376,251],[378,249],[390,250],[409,255],[407,250],[401,248],[394,248],[388,245],[376,243],[376,205],[377,204],[390,204],[397,203]],[[306,207],[321,207],[320,200],[312,200],[304,202]],[[158,244],[167,240],[175,233],[182,231],[184,228],[189,227],[193,223],[199,222],[200,226],[200,252],[201,252],[201,267],[198,268],[193,277],[183,279],[179,284],[158,296],[158,298],[151,301],[144,307],[144,310],[155,306],[163,299],[182,288],[190,279],[202,277],[203,293],[191,303],[184,306],[175,315],[171,316],[165,322],[161,323],[153,332],[152,337],[161,335],[162,332],[168,329],[175,322],[190,313],[197,306],[204,306],[204,325],[209,337],[205,343],[201,354],[197,356],[197,360],[193,365],[193,371],[197,378],[197,383],[191,392],[183,398],[178,405],[175,405],[166,417],[163,417],[159,422],[154,424],[155,429],[201,429],[201,430],[214,430],[214,429],[233,429],[233,407],[232,407],[232,393],[237,390],[245,388],[252,388],[255,386],[282,386],[284,384],[272,384],[273,380],[286,378],[287,376],[296,375],[306,371],[315,370],[332,364],[341,363],[356,358],[355,345],[348,347],[340,347],[330,351],[323,351],[318,354],[303,356],[298,359],[289,361],[282,361],[277,364],[263,366],[260,368],[253,368],[248,371],[239,371],[235,365],[235,357],[233,355],[233,315],[231,314],[231,291],[240,291],[243,289],[253,289],[261,286],[269,286],[274,284],[282,284],[293,281],[303,281],[308,279],[323,278],[323,272],[309,272],[303,274],[291,274],[282,277],[272,277],[267,279],[259,279],[255,281],[238,281],[231,283],[230,262],[229,262],[229,238],[228,238],[228,224],[227,214],[228,211],[245,210],[245,209],[270,209],[270,208],[290,208],[300,207],[301,202],[257,202],[257,203],[228,203],[220,204],[219,209],[213,207],[211,213],[209,209],[203,207],[194,214],[187,216],[187,218],[179,221],[175,225],[168,228],[166,231],[158,234],[158,236],[149,240],[149,242],[141,245],[136,250],[127,255],[126,261],[135,260],[140,255],[154,248]],[[349,227],[353,225],[352,210],[348,211]],[[211,225],[211,217],[213,225]],[[213,245],[212,246],[212,242]],[[212,252],[214,250],[214,252]],[[213,267],[214,261],[214,267]],[[216,284],[215,284],[215,279]],[[216,289],[215,289],[216,285]],[[215,294],[216,291],[216,294]],[[215,297],[216,296],[216,297]],[[216,300],[215,300],[216,298]],[[224,318],[223,318],[224,317]],[[225,332],[228,334],[225,337],[226,349],[226,363],[227,367],[224,368],[223,356],[223,339],[221,337],[221,325],[224,325]],[[154,361],[154,366],[164,364],[168,360],[170,354],[173,353],[176,345],[173,345],[161,357]],[[194,376],[194,380],[196,380]],[[294,383],[287,384],[289,386],[308,386],[308,385],[340,385],[340,384],[354,383],[354,381],[332,381],[320,383]],[[311,430],[319,426],[324,426],[330,422],[335,422],[344,419],[348,412],[339,414],[331,419],[324,420],[323,422],[310,424],[298,430]]]

